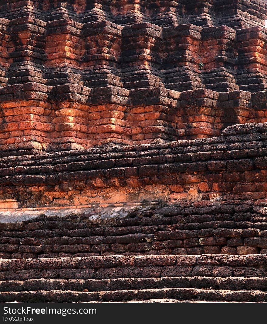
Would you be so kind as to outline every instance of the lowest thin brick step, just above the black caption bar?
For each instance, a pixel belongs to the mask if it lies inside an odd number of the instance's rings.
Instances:
[[[2,292],[1,302],[106,302],[129,301],[149,299],[176,299],[176,300],[200,300],[200,301],[242,301],[265,302],[267,293],[254,291],[229,291],[216,289],[197,288],[161,288],[143,290],[114,290],[110,292],[74,292],[74,291],[44,291],[31,292]]]

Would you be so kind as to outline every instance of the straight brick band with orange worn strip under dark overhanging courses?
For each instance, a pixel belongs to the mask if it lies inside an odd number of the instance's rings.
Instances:
[[[266,130],[265,123],[252,123],[230,126],[210,139],[2,152],[0,197],[20,208],[219,201],[227,195],[265,199]]]

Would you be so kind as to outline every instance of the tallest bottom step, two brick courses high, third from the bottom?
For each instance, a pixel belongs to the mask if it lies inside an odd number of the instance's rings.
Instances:
[[[0,259],[0,280],[177,276],[267,277],[267,254]]]

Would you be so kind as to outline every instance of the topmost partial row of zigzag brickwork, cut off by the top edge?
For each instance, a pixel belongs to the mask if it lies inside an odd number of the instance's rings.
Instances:
[[[130,25],[152,22],[159,26],[176,25],[186,21],[199,26],[226,24],[237,29],[265,25],[266,6],[263,1],[200,2],[195,1],[136,1],[117,3],[111,0],[50,1],[3,0],[0,17],[16,19],[29,15],[48,21],[71,17],[77,22],[93,22],[108,19],[114,23]],[[245,15],[244,15],[245,13]]]

